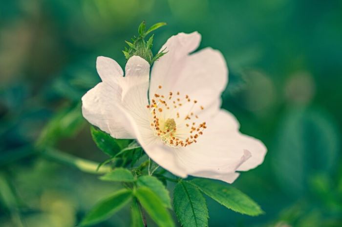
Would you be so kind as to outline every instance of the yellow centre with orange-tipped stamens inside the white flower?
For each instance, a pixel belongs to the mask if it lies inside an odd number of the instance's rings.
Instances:
[[[154,94],[150,110],[150,126],[155,136],[171,147],[186,147],[203,135],[207,128],[206,122],[201,122],[198,112],[203,111],[196,100],[180,92],[167,94],[158,86],[160,92]],[[198,114],[198,115],[197,115]]]

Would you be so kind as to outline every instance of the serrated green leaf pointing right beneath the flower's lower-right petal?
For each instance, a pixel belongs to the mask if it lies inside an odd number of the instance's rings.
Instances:
[[[202,192],[216,200],[225,207],[251,216],[257,216],[263,213],[262,209],[256,202],[249,198],[246,194],[237,190],[235,187],[214,180],[197,178],[191,181]]]

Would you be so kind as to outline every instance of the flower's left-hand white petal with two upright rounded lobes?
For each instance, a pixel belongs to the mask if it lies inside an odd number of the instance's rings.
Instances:
[[[123,77],[122,69],[114,60],[98,57],[97,69],[103,82],[83,96],[84,117],[115,138],[135,138],[117,105],[129,110],[136,121],[148,122],[149,63],[141,57],[131,57]]]

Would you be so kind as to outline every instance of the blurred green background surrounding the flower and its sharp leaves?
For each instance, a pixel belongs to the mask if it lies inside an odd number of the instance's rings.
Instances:
[[[120,187],[32,146],[40,137],[106,159],[79,102],[99,82],[96,57],[124,67],[124,41],[143,20],[168,23],[155,32],[154,52],[195,30],[200,48],[222,51],[230,69],[223,108],[268,147],[264,163],[233,184],[265,215],[207,198],[209,226],[342,226],[340,0],[0,0],[0,226],[73,227]],[[98,226],[128,225],[127,207]]]

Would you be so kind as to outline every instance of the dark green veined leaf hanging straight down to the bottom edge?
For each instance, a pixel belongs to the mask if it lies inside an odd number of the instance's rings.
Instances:
[[[176,184],[173,192],[173,207],[183,227],[207,227],[208,208],[202,193],[189,182]]]

